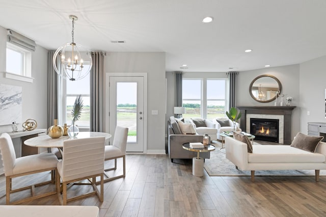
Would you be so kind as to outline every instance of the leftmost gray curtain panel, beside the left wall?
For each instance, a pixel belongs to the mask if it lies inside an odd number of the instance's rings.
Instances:
[[[55,51],[51,50],[47,55],[47,128],[54,124],[54,119],[58,119],[58,74],[52,65],[54,54]]]

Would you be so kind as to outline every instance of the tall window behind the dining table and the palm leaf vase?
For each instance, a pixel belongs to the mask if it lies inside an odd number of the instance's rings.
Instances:
[[[87,70],[88,66],[84,64],[84,69]],[[90,127],[90,73],[86,75],[83,79],[80,80],[63,80],[63,99],[65,101],[58,104],[59,112],[62,115],[60,117],[60,125],[67,123],[67,125],[72,124],[71,110],[72,106],[75,102],[77,95],[81,94],[83,97],[84,108],[82,111],[82,115],[79,120],[75,122],[78,127]],[[60,110],[60,107],[65,108],[64,110]]]

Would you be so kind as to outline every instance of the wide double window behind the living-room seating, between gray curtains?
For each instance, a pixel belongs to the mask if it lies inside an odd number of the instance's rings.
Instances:
[[[226,79],[183,78],[182,106],[186,108],[185,119],[224,117],[226,111]]]

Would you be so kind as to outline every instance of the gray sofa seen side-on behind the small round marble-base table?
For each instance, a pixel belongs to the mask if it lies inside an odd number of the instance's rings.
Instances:
[[[182,144],[191,142],[203,142],[203,135],[182,134],[176,119],[171,116],[168,121],[168,152],[171,162],[173,159],[191,159],[197,156],[197,152],[182,148]],[[202,158],[210,158],[209,152],[200,153]]]

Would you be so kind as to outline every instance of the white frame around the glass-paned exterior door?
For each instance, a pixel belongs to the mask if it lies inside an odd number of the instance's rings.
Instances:
[[[108,115],[110,112],[110,100],[106,100],[107,97],[110,96],[110,77],[116,76],[116,77],[144,77],[144,144],[143,144],[143,153],[147,153],[147,73],[116,73],[116,72],[107,72],[105,73],[105,131],[110,133],[112,130],[110,129],[110,116]],[[111,133],[112,134],[112,133]],[[110,142],[112,142],[110,140]],[[128,152],[132,153],[132,152]],[[142,152],[135,152],[135,153],[142,153]]]

